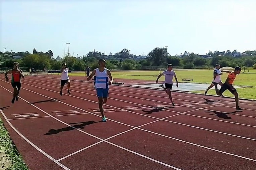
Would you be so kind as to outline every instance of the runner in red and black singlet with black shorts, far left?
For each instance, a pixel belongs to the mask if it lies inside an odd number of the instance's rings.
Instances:
[[[11,79],[11,85],[13,87],[13,98],[11,103],[14,103],[14,100],[16,99],[16,101],[18,101],[18,95],[19,95],[19,91],[21,88],[21,80],[20,77],[25,78],[23,71],[21,69],[19,69],[19,63],[18,62],[14,62],[13,63],[13,69],[7,71],[5,73],[5,78],[6,81],[9,82],[9,78],[8,75],[9,73],[12,73],[12,79]]]

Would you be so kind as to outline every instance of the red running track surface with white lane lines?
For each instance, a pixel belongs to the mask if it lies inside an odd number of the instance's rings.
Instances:
[[[236,111],[234,99],[175,92],[172,107],[164,91],[111,86],[103,123],[79,78],[60,96],[59,76],[26,76],[11,104],[1,76],[1,119],[30,169],[255,170],[255,101]]]

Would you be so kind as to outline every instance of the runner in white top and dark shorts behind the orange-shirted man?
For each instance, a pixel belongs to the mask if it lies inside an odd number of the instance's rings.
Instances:
[[[220,76],[223,74],[222,72],[231,73],[231,71],[220,70],[220,65],[216,64],[215,69],[213,70],[213,80],[211,82],[211,85],[205,90],[205,92],[204,92],[205,95],[207,94],[208,90],[210,90],[213,86],[215,86],[216,94],[223,97],[223,95],[219,94],[219,90],[218,90],[218,84],[220,86],[223,85],[221,78],[220,78]]]

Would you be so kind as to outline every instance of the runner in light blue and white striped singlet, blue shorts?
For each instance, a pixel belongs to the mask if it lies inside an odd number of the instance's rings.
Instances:
[[[104,59],[99,60],[99,68],[96,68],[92,71],[91,75],[87,78],[89,81],[92,76],[95,77],[95,88],[97,91],[97,97],[99,100],[99,109],[102,115],[102,121],[107,122],[106,116],[104,115],[103,104],[107,103],[108,100],[108,93],[109,93],[109,84],[113,83],[113,77],[111,75],[111,71],[106,67],[106,61]],[[108,77],[110,81],[108,83]]]

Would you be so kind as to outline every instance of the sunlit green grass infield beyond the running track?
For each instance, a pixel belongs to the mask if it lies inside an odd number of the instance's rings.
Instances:
[[[179,82],[196,82],[196,83],[211,83],[213,79],[213,69],[205,70],[175,70]],[[141,80],[156,80],[159,74],[159,70],[154,71],[112,71],[112,76],[114,78],[128,78],[128,79],[141,79]],[[79,73],[69,73],[69,75],[80,75],[84,76],[83,72]],[[223,73],[221,75],[222,81],[225,81],[228,73]],[[182,79],[193,79],[193,81],[182,81]],[[164,76],[160,79],[164,80]],[[237,75],[234,81],[234,85],[237,86],[251,86],[248,88],[239,88],[238,93],[240,98],[256,99],[256,69],[250,69],[249,73],[241,73]],[[204,91],[193,91],[195,93],[204,93]],[[216,95],[214,88],[209,90],[207,94]],[[223,93],[224,96],[233,97],[229,91]]]

